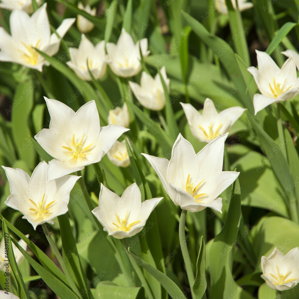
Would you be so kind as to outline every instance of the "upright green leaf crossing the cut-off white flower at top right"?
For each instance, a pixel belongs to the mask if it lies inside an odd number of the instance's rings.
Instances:
[[[228,21],[231,28],[231,35],[237,54],[242,57],[245,65],[250,66],[249,51],[246,41],[246,31],[249,27],[244,26],[239,9],[234,9],[231,0],[225,0],[228,8]]]

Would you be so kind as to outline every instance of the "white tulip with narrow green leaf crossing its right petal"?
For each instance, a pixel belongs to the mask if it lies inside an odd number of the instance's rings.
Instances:
[[[170,80],[167,78],[165,66],[161,68],[160,72],[169,92]],[[155,79],[153,79],[147,72],[142,72],[140,85],[132,81],[129,81],[129,85],[136,99],[145,108],[155,111],[164,108],[165,94],[159,74],[156,74]]]

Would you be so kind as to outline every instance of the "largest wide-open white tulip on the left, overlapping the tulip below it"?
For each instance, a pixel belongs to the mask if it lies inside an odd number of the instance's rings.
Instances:
[[[48,180],[82,170],[84,166],[101,161],[121,134],[122,126],[100,128],[100,118],[92,100],[75,113],[67,105],[45,97],[51,121],[35,139],[55,159],[49,161]]]

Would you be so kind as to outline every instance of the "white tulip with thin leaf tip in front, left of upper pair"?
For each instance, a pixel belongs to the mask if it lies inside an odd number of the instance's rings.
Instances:
[[[88,68],[95,79],[104,76],[107,68],[104,40],[98,42],[97,45],[94,46],[93,43],[82,34],[79,48],[69,48],[69,50],[71,61],[68,61],[66,64],[79,78],[83,80],[91,80]]]

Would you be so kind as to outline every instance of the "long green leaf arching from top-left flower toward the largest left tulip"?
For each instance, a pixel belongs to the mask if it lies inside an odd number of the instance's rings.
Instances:
[[[97,104],[97,110],[100,114],[101,123],[107,124],[107,117],[105,113],[105,107],[103,107],[101,101],[99,100],[99,97],[97,96],[94,89],[91,87],[91,85],[79,77],[70,69],[68,68],[64,63],[60,62],[54,57],[49,56],[48,54],[36,49],[36,51],[47,60],[53,68],[55,68],[57,71],[60,71],[65,77],[68,78],[68,80],[74,84],[74,86],[78,89],[80,93],[82,93],[83,98],[86,102],[89,100],[95,100]]]

